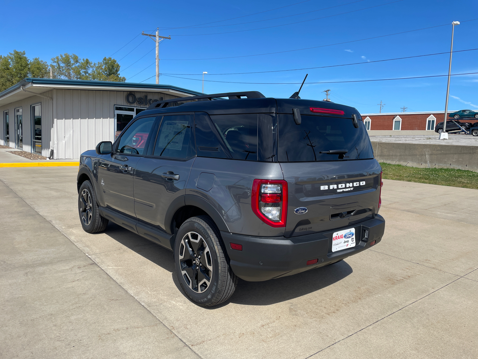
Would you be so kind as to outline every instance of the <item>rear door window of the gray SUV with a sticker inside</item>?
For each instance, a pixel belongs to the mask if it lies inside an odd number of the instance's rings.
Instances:
[[[195,155],[191,135],[191,115],[164,116],[153,156],[191,158]]]

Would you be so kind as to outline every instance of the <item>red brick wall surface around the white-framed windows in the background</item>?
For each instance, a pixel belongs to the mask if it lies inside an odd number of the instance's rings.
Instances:
[[[449,113],[449,112],[448,112]],[[388,114],[380,114],[380,115],[368,115],[371,120],[370,123],[370,130],[393,130],[393,119],[396,116],[400,116],[402,119],[402,130],[426,130],[427,125],[427,118],[430,115],[434,115],[435,125],[439,122],[443,121],[444,114],[443,113],[424,113],[424,114],[407,114],[406,112],[401,113],[400,115],[388,115]],[[362,118],[365,120],[367,118],[366,115],[362,115]]]

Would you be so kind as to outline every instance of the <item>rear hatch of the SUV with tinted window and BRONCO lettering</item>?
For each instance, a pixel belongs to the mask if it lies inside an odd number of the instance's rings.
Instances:
[[[302,236],[372,218],[378,211],[381,168],[363,122],[354,126],[351,114],[360,119],[359,113],[323,101],[295,101],[300,124],[292,106],[289,113],[278,114],[278,159],[289,191],[284,235]],[[339,112],[311,112],[309,107]]]

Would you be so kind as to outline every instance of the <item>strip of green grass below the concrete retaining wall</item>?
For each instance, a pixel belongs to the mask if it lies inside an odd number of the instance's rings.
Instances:
[[[382,178],[478,190],[478,172],[455,168],[416,168],[380,162]]]

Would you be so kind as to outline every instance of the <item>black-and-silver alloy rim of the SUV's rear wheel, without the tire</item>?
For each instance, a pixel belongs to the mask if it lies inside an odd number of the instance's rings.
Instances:
[[[196,293],[209,288],[212,278],[212,258],[204,238],[197,232],[188,232],[179,247],[181,274],[188,287]]]

